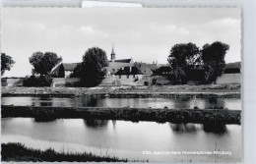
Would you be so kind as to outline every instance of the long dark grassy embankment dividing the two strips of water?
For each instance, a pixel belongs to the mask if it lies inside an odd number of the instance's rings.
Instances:
[[[225,109],[158,109],[158,108],[98,108],[98,107],[35,107],[2,105],[2,118],[31,117],[35,121],[59,118],[86,120],[154,121],[159,123],[238,124],[240,110]]]

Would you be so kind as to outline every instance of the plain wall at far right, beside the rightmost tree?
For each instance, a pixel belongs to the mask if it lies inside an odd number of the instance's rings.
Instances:
[[[241,83],[241,74],[224,74],[222,77],[217,79],[216,83]]]

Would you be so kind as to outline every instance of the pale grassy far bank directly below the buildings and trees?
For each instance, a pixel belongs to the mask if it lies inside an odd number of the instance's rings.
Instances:
[[[2,96],[15,94],[72,94],[75,96],[92,94],[159,94],[159,93],[208,93],[240,94],[240,84],[201,85],[154,85],[154,86],[98,86],[98,87],[3,87]]]

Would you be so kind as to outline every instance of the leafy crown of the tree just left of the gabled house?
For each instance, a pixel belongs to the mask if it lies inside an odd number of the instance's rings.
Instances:
[[[32,75],[39,74],[40,76],[49,75],[54,66],[62,61],[61,57],[53,52],[35,52],[30,57],[32,64]]]

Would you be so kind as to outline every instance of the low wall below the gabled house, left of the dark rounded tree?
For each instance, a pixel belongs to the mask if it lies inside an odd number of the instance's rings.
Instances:
[[[78,86],[80,78],[53,78],[51,87]]]

